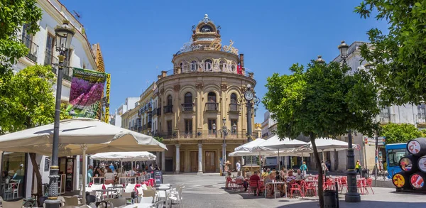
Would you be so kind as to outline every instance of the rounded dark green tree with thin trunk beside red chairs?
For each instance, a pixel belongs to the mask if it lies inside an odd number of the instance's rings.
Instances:
[[[310,137],[315,161],[320,164],[315,138],[344,135],[348,129],[372,134],[378,125],[377,89],[364,71],[349,74],[350,68],[337,62],[328,65],[315,61],[290,67],[292,75],[268,77],[263,104],[277,121],[281,138]],[[322,168],[319,166],[319,179]],[[322,187],[322,180],[318,180]],[[324,207],[322,188],[318,190],[320,207]]]

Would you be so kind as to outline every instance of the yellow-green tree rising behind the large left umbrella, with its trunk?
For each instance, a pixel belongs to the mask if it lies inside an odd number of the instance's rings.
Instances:
[[[5,104],[0,111],[0,134],[21,131],[35,126],[51,124],[55,117],[55,97],[53,97],[55,75],[50,66],[35,65],[11,76],[0,97]],[[62,105],[61,119],[70,119]],[[31,163],[37,178],[38,197],[43,194],[42,180],[35,153],[30,153]]]

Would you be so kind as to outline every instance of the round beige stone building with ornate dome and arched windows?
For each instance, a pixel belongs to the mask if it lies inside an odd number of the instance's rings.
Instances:
[[[222,126],[229,129],[226,155],[247,141],[247,109],[241,99],[247,84],[256,85],[253,73],[244,70],[244,55],[232,43],[222,46],[219,30],[208,17],[194,28],[192,42],[173,55],[172,62],[173,74],[158,76],[154,107],[160,110],[154,115],[158,131],[153,135],[163,137],[168,146],[162,166],[175,173],[219,172]],[[254,126],[253,120],[249,125]],[[241,160],[226,158],[231,169]]]

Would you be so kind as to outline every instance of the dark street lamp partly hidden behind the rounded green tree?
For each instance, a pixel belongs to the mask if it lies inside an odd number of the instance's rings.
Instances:
[[[346,58],[348,58],[349,45],[342,43],[337,47],[340,50],[340,58],[343,60],[343,65],[346,65]],[[361,196],[356,188],[356,172],[355,172],[355,155],[354,149],[352,148],[352,131],[348,130],[348,159],[347,159],[347,172],[348,177],[348,192],[344,197],[345,202],[361,202]]]

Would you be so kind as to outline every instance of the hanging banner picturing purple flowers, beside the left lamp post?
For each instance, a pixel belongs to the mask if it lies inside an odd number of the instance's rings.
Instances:
[[[68,113],[74,117],[96,119],[99,106],[102,106],[106,80],[106,73],[74,68]]]

